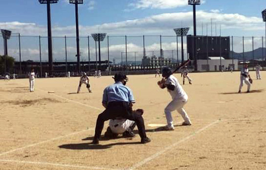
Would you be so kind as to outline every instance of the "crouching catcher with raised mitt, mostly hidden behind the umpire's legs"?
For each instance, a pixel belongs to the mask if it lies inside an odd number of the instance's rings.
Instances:
[[[143,109],[136,109],[132,112],[142,115]],[[123,134],[123,137],[134,137],[135,134],[133,133],[133,129],[135,128],[136,123],[129,119],[123,118],[116,118],[111,119],[109,121],[109,127],[107,128],[106,132],[104,133],[104,137],[106,138],[115,138],[119,134]]]

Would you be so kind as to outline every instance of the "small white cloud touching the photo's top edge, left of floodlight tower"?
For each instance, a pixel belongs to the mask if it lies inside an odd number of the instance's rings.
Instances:
[[[179,6],[185,6],[188,4],[187,0],[136,0],[136,2],[130,3],[129,6],[137,9],[144,8],[175,8]]]

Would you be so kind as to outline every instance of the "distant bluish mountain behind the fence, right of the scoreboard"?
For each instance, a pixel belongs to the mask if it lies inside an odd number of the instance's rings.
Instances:
[[[264,50],[264,56],[262,54],[262,50]],[[255,60],[263,60],[265,59],[266,56],[266,48],[257,48],[254,50],[254,59]],[[233,52],[233,58],[238,59],[238,60],[243,60],[243,53],[235,53]],[[247,51],[244,52],[244,58],[245,60],[252,60],[253,59],[253,54],[252,51]]]

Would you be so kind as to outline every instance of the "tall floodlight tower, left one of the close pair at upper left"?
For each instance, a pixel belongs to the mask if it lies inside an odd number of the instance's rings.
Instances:
[[[57,3],[58,0],[39,0],[41,4],[47,4],[47,33],[48,33],[48,63],[50,75],[53,74],[53,47],[52,47],[52,30],[51,30],[51,10],[50,3]]]

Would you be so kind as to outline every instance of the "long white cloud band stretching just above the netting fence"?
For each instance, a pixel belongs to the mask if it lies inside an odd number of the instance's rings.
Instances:
[[[247,17],[240,14],[223,14],[212,12],[197,12],[198,23],[210,23],[212,18],[213,23],[222,25],[223,33],[227,29],[236,29],[237,34],[247,31],[263,31],[265,29],[261,18]],[[121,22],[103,23],[94,26],[80,25],[80,36],[87,36],[91,33],[100,32],[111,34],[127,34],[127,35],[141,35],[141,34],[170,34],[173,35],[173,28],[181,27],[193,28],[193,13],[192,12],[178,12],[178,13],[164,13],[153,15],[145,18],[126,20]],[[13,33],[21,33],[23,35],[41,35],[47,36],[47,27],[37,25],[35,23],[21,23],[21,22],[7,22],[0,23],[0,28],[11,30]],[[75,26],[62,27],[60,25],[53,25],[53,36],[75,36]],[[250,32],[252,33],[252,32]],[[191,33],[189,33],[191,34]],[[232,35],[232,34],[230,34]]]

